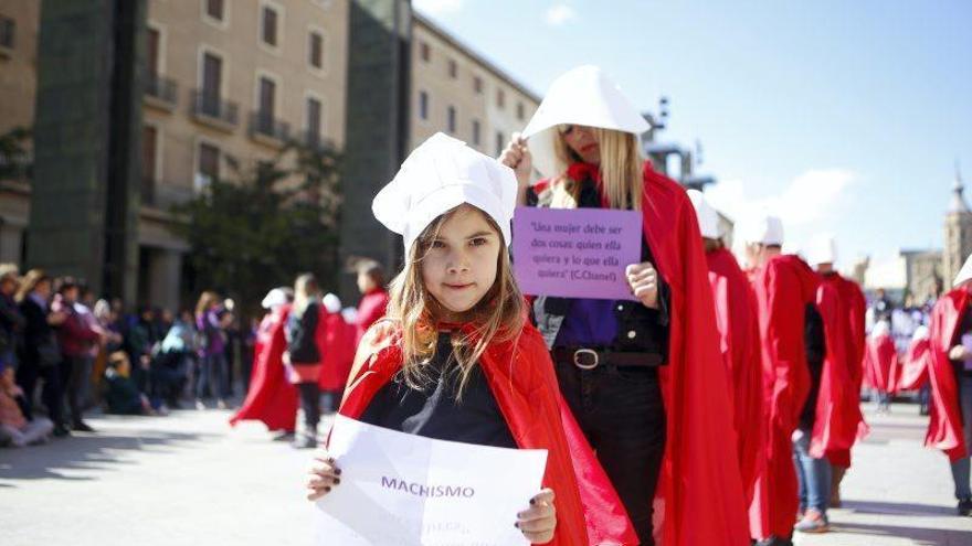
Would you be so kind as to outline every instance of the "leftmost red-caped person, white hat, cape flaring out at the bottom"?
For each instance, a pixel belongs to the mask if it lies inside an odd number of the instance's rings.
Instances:
[[[293,436],[297,419],[297,389],[287,381],[283,355],[287,349],[284,326],[290,312],[287,289],[274,288],[263,299],[267,313],[256,330],[250,389],[240,410],[230,418],[236,426],[258,420],[268,430],[281,430],[282,439]]]

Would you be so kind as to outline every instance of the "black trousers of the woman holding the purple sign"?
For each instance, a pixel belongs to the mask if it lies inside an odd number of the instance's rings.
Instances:
[[[560,389],[621,496],[642,545],[652,546],[652,503],[665,454],[657,368],[556,363]]]

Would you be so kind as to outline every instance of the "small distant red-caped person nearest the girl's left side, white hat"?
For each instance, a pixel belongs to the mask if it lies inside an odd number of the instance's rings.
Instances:
[[[320,323],[324,328],[317,330],[317,345],[321,355],[317,386],[328,400],[324,411],[334,411],[341,400],[345,384],[351,373],[357,329],[345,321],[341,300],[336,295],[325,295],[321,302]]]

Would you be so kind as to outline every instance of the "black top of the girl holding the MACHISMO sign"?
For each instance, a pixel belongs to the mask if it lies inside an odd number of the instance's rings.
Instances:
[[[412,388],[395,376],[374,394],[359,420],[436,440],[516,448],[478,365],[473,367],[462,402],[456,400],[459,376],[450,336],[448,332],[439,334],[425,388]]]

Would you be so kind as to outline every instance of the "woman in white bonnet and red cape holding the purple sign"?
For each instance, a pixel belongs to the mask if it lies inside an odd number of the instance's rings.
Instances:
[[[518,202],[642,214],[632,300],[539,295],[532,315],[564,399],[642,544],[749,540],[746,495],[698,223],[685,189],[642,159],[647,124],[595,66],[560,76],[503,151]],[[530,184],[533,168],[547,180]]]

